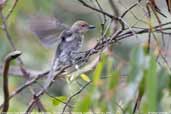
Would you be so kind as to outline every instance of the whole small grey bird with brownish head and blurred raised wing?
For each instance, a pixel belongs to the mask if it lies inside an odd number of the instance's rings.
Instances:
[[[31,30],[45,46],[58,43],[52,61],[51,75],[62,66],[75,64],[76,56],[83,44],[84,35],[95,28],[84,20],[75,21],[72,26],[60,22],[57,18],[34,16]]]

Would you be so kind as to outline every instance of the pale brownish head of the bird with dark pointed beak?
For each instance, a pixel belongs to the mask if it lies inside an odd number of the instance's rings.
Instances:
[[[85,33],[88,30],[94,29],[94,25],[90,25],[85,21],[76,21],[72,26],[71,30],[74,32]]]

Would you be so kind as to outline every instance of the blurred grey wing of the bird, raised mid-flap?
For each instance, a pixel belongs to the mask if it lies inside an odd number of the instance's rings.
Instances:
[[[30,18],[30,29],[46,47],[58,42],[58,35],[69,26],[60,22],[55,17],[32,16]]]

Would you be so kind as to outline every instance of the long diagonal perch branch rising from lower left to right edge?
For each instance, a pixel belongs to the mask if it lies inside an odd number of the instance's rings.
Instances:
[[[162,25],[155,26],[153,28],[154,28],[155,32],[158,32],[158,31],[160,32],[160,26],[162,26],[162,27],[166,26],[166,28],[165,29],[163,28],[163,30],[170,30],[171,28],[167,28],[168,25],[170,25],[170,24],[171,24],[171,22],[167,22],[167,23],[164,23]],[[144,34],[144,33],[148,33],[148,31],[149,31],[149,28],[144,28],[144,29],[136,31],[135,33],[136,34]],[[131,36],[133,36],[132,31],[129,30],[129,31],[124,32],[124,33],[122,33],[122,31],[119,31],[116,35],[113,35],[113,36],[108,37],[108,38],[104,38],[104,39],[100,40],[94,46],[94,48],[86,51],[85,56],[81,57],[79,59],[79,62],[87,61],[90,56],[95,55],[98,52],[101,52],[106,46],[109,46],[110,44],[113,44],[113,43],[117,43],[118,41],[123,40],[123,39],[128,38],[128,37],[131,37]],[[70,67],[72,67],[72,65],[69,65],[69,66],[65,67],[64,69],[61,69],[60,71],[57,71],[58,73],[55,73],[54,75],[57,75],[56,77],[61,78],[60,76],[62,75],[64,70],[66,70],[67,68],[70,68]],[[32,79],[28,80],[24,85],[20,86],[16,91],[14,91],[10,95],[10,99],[13,98],[15,95],[19,94],[20,92],[22,92],[24,89],[26,89],[30,85],[36,83],[37,80],[42,79],[43,77],[47,76],[48,74],[49,74],[49,70],[41,72],[41,73],[36,73],[36,74],[33,72],[29,72],[29,77],[31,77]],[[42,94],[44,94],[44,90],[41,91],[41,93],[39,93],[39,95],[38,94],[37,95],[41,96]],[[0,105],[0,108],[2,106],[3,106],[3,104]]]

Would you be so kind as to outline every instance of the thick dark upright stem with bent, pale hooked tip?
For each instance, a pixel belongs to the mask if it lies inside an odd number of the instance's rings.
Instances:
[[[10,67],[10,62],[21,55],[20,51],[14,51],[6,56],[4,70],[3,70],[3,91],[4,91],[4,105],[2,112],[8,112],[9,108],[9,89],[8,89],[8,70]]]

